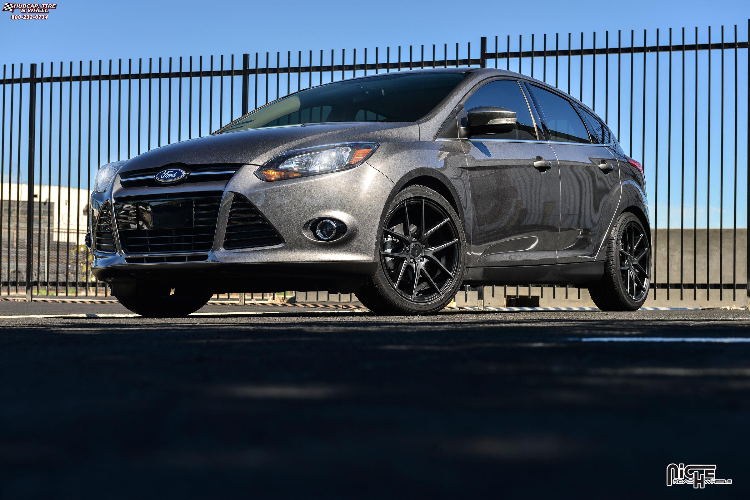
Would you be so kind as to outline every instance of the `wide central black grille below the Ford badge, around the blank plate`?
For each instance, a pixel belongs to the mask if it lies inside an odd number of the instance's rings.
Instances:
[[[221,192],[197,192],[157,197],[141,195],[115,198],[115,219],[123,251],[128,254],[159,254],[211,250],[221,195]],[[193,201],[192,227],[175,229],[142,227],[142,222],[138,220],[138,204],[166,200]]]

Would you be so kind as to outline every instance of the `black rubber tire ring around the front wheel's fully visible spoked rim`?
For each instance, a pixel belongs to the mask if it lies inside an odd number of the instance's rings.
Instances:
[[[456,266],[456,279],[452,284],[452,287],[450,287],[450,289],[447,290],[446,293],[443,294],[443,296],[437,297],[430,302],[419,303],[404,299],[404,297],[401,296],[400,293],[394,290],[391,281],[386,275],[386,270],[383,269],[383,259],[380,257],[380,248],[383,243],[383,227],[386,224],[386,221],[388,220],[391,213],[400,204],[404,203],[404,201],[409,198],[416,197],[433,201],[435,204],[443,208],[443,210],[446,210],[446,213],[448,213],[448,215],[454,222],[456,233],[458,234],[460,249],[460,251],[458,252],[458,263]],[[378,228],[377,234],[376,256],[378,266],[377,272],[374,275],[374,280],[377,282],[378,287],[383,290],[383,293],[386,295],[389,301],[392,302],[396,307],[403,309],[405,312],[414,314],[433,313],[445,308],[446,305],[448,305],[454,299],[455,294],[458,293],[458,289],[461,286],[461,281],[463,281],[463,272],[464,269],[466,269],[466,233],[465,231],[463,231],[463,225],[461,224],[461,219],[458,216],[458,213],[456,213],[456,211],[453,209],[451,204],[449,204],[446,198],[443,198],[443,196],[441,196],[437,191],[434,191],[434,189],[430,189],[425,186],[409,186],[403,191],[399,192],[383,212],[383,218],[381,219],[380,228]]]

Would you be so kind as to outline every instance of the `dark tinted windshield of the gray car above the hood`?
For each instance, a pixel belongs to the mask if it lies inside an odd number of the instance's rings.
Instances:
[[[229,124],[220,133],[335,121],[417,121],[466,73],[390,73],[305,89]]]

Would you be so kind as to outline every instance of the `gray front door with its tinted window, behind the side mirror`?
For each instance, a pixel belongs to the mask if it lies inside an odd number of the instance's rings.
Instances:
[[[508,132],[469,136],[474,228],[469,266],[554,263],[559,231],[559,166],[538,127],[530,97],[515,79],[482,85],[463,103],[468,109],[499,106],[516,112]]]

